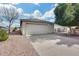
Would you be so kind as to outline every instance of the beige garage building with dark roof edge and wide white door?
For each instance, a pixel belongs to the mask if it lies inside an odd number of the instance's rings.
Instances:
[[[54,24],[52,22],[39,19],[21,19],[20,26],[23,35],[54,32]]]

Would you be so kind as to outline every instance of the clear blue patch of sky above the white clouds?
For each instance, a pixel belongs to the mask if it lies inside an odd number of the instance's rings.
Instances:
[[[35,10],[39,10],[42,14],[54,7],[53,3],[20,3],[16,4],[17,8],[22,8],[25,13],[33,13]]]

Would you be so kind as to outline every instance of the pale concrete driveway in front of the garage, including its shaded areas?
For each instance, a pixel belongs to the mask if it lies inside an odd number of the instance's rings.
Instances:
[[[79,37],[34,35],[30,41],[41,56],[79,56]]]

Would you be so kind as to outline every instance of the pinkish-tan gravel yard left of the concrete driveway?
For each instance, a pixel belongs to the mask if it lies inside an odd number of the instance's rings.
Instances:
[[[28,39],[21,35],[10,35],[9,39],[0,42],[0,56],[36,56]]]

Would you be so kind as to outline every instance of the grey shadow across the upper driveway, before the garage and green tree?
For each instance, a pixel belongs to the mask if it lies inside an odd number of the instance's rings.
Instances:
[[[33,35],[30,37],[32,42],[43,42],[45,40],[58,40],[57,45],[67,45],[71,47],[72,45],[79,45],[78,36],[65,36],[60,34],[44,34],[44,35]]]

